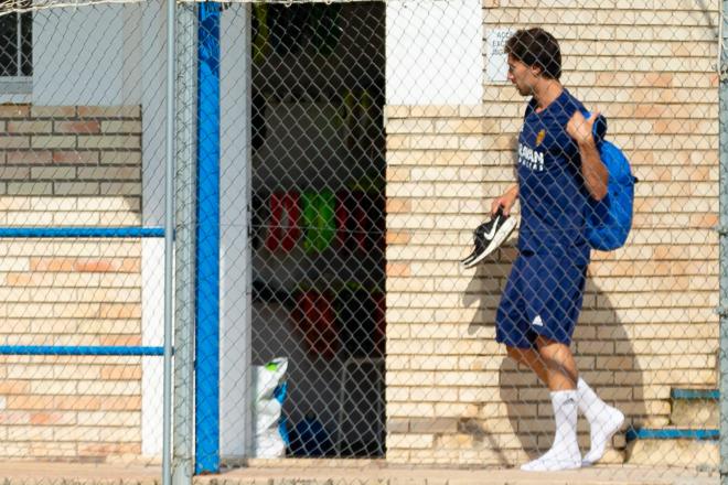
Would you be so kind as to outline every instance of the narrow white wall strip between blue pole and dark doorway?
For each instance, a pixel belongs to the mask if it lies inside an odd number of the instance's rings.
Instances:
[[[220,439],[223,459],[247,456],[250,410],[250,29],[249,6],[221,19]]]

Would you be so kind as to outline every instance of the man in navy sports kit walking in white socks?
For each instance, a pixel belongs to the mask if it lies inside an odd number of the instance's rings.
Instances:
[[[624,422],[581,379],[569,349],[586,282],[590,248],[585,237],[588,197],[607,195],[609,174],[592,127],[597,114],[564,88],[561,54],[543,29],[517,31],[506,43],[508,80],[531,96],[518,137],[518,183],[493,201],[508,215],[521,202],[518,257],[496,313],[496,341],[550,390],[556,433],[552,449],[522,470],[556,471],[599,461]],[[591,450],[581,457],[577,410],[590,424]]]

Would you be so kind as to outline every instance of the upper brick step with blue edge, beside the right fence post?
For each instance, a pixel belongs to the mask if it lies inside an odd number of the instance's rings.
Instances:
[[[713,429],[720,422],[717,389],[673,389],[670,422],[679,428]]]

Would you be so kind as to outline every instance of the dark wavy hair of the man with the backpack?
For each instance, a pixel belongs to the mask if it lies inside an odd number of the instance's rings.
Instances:
[[[561,77],[561,51],[558,41],[540,28],[517,31],[505,42],[505,53],[529,67],[540,67],[545,77]]]

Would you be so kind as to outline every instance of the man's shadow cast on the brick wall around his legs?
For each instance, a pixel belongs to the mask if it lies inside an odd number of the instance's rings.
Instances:
[[[495,338],[495,311],[516,256],[514,242],[508,242],[478,267],[463,295],[463,305],[478,305],[483,321],[473,321],[469,334]],[[485,330],[485,328],[486,330]],[[485,330],[485,332],[483,332]],[[584,308],[571,343],[579,375],[610,406],[617,406],[627,417],[623,430],[640,425],[646,417],[642,370],[617,312],[609,298],[587,278]],[[545,453],[554,438],[554,418],[549,392],[525,366],[515,364],[501,346],[492,358],[501,359],[497,389],[483,392],[490,402],[474,402],[478,418],[464,418],[459,433],[470,434],[477,446],[494,452],[497,465],[514,466],[523,460]],[[489,366],[489,368],[494,368]],[[500,402],[497,399],[500,398]],[[579,445],[582,454],[589,450],[589,425],[579,413]],[[624,433],[613,443],[620,453]],[[525,453],[525,454],[524,454]],[[612,460],[613,460],[612,455]],[[609,459],[606,456],[604,461]]]

